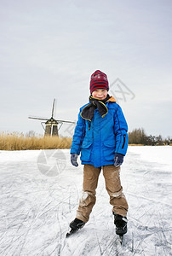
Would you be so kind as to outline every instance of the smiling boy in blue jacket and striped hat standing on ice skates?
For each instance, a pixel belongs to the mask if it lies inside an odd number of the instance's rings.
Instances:
[[[128,126],[122,109],[108,95],[108,90],[106,74],[96,70],[91,75],[89,103],[80,108],[72,140],[72,165],[78,166],[77,156],[81,152],[84,167],[83,196],[79,201],[77,216],[70,227],[75,231],[89,221],[102,168],[116,233],[123,236],[127,233],[128,203],[123,195],[119,172],[128,148]]]

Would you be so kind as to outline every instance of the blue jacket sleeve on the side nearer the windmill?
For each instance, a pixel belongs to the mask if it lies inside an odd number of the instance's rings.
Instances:
[[[75,127],[73,139],[72,139],[72,147],[71,154],[80,154],[81,145],[83,143],[83,137],[85,135],[85,120],[81,117],[81,109],[78,114],[77,125]]]

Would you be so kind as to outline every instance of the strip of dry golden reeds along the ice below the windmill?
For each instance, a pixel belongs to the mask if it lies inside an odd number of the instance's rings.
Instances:
[[[71,148],[69,137],[27,137],[23,134],[0,134],[0,150]]]

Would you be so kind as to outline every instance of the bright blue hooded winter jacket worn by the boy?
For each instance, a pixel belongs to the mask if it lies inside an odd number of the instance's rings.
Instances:
[[[89,104],[89,103],[88,103]],[[106,102],[108,113],[101,117],[95,109],[94,118],[91,120],[81,117],[82,109],[78,114],[77,125],[72,140],[71,154],[80,154],[81,163],[95,167],[114,164],[114,154],[125,155],[128,148],[128,125],[120,106],[111,97]]]

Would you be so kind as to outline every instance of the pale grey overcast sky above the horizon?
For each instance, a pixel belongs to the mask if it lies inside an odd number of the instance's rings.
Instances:
[[[172,136],[170,0],[0,0],[0,19],[0,131],[43,134],[28,116],[50,118],[53,98],[76,120],[100,69],[129,131]]]

